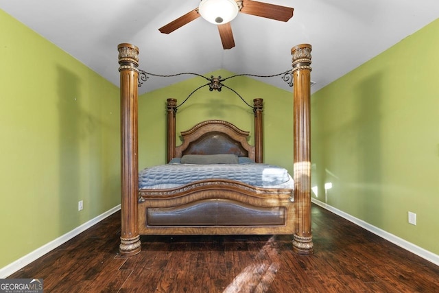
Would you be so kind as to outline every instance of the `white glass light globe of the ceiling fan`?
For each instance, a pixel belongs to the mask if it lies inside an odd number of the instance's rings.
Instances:
[[[203,19],[215,25],[222,25],[235,19],[239,12],[235,0],[202,0],[198,13]]]

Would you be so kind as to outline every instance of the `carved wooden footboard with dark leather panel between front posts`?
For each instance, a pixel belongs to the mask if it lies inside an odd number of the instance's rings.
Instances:
[[[293,234],[292,189],[200,180],[176,189],[141,189],[141,235]]]

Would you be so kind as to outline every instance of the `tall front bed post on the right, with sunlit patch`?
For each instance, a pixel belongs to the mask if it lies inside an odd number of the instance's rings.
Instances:
[[[291,49],[294,78],[294,201],[296,228],[293,248],[311,255],[311,45]]]

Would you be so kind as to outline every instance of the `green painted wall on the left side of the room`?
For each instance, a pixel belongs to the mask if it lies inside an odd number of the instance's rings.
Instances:
[[[120,203],[120,143],[117,86],[3,10],[0,27],[2,268]]]

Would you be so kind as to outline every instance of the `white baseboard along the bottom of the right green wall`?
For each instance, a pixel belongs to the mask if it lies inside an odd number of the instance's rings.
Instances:
[[[336,209],[335,207],[330,206],[329,204],[321,202],[320,200],[316,200],[316,198],[311,198],[311,202],[317,204],[324,209],[327,209],[328,211],[331,211],[332,213],[335,213],[336,215],[340,215],[340,217],[345,218],[350,222],[353,222],[361,228],[365,228],[367,231],[370,231],[375,235],[378,235],[379,237],[384,238],[389,242],[392,242],[393,244],[396,244],[397,246],[400,246],[401,248],[404,248],[405,250],[408,250],[411,253],[414,253],[415,255],[418,255],[419,257],[422,257],[423,259],[426,259],[427,261],[436,264],[436,266],[439,266],[439,255],[431,253],[430,251],[416,246],[415,244],[412,244],[411,242],[408,242],[407,240],[404,240],[398,236],[388,233],[381,228],[378,228],[367,222],[364,222],[363,220],[355,218],[352,215],[345,213],[344,211],[340,211],[340,209]]]

